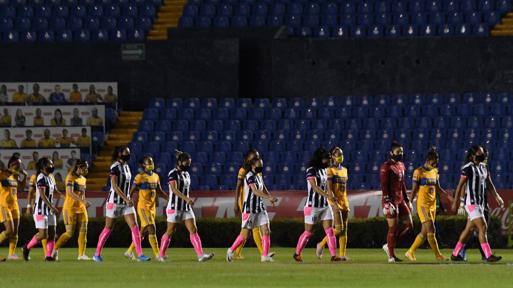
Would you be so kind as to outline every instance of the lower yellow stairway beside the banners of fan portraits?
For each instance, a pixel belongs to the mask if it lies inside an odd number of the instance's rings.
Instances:
[[[121,112],[113,128],[106,137],[104,146],[98,150],[94,158],[91,173],[87,175],[87,190],[101,191],[109,177],[110,158],[115,146],[126,146],[132,140],[132,134],[137,131],[139,121],[143,119],[143,112]]]

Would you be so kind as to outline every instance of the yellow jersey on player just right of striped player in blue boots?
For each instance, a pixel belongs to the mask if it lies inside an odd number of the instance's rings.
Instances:
[[[137,209],[155,211],[156,189],[160,187],[159,175],[143,171],[135,176],[132,185],[139,188]]]

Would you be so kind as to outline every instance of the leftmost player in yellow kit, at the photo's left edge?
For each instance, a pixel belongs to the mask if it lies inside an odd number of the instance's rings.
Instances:
[[[7,163],[8,170],[0,172],[0,222],[4,223],[5,230],[0,233],[0,243],[9,238],[9,256],[7,259],[19,259],[14,254],[18,242],[19,207],[18,189],[24,190],[27,186],[27,172],[21,167],[22,161],[12,156]],[[23,174],[23,181],[20,175]],[[0,257],[0,261],[4,258]]]

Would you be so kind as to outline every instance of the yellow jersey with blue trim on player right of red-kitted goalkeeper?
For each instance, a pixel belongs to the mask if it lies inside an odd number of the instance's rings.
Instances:
[[[414,183],[419,186],[417,193],[417,206],[429,208],[429,210],[437,209],[436,187],[438,182],[438,169],[428,169],[424,165],[413,171]]]

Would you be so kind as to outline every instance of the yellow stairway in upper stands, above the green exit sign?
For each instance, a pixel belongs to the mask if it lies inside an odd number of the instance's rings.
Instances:
[[[178,19],[182,16],[187,0],[164,0],[159,8],[157,17],[153,20],[152,30],[148,33],[148,40],[167,40],[167,29],[178,26]]]

